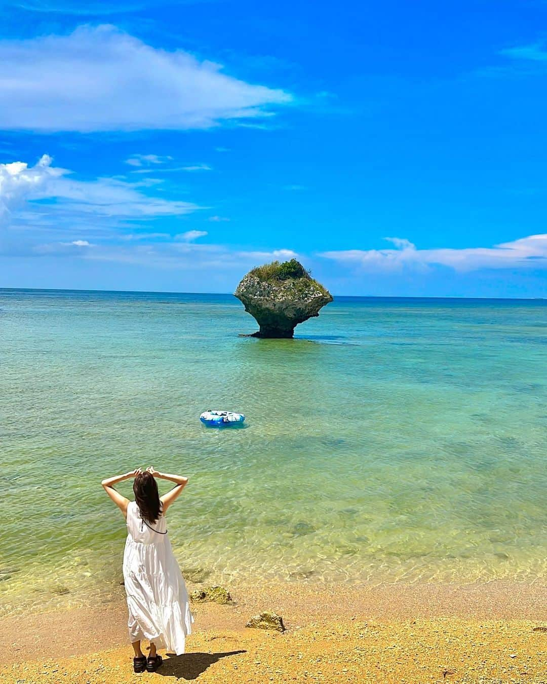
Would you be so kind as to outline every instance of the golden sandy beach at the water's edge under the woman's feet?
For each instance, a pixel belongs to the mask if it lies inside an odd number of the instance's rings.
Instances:
[[[4,618],[1,681],[547,681],[546,587],[539,583],[230,591],[233,605],[194,605],[187,653],[168,657],[153,675],[132,672],[122,597],[103,606]],[[246,620],[261,610],[282,615],[286,631],[246,629]]]

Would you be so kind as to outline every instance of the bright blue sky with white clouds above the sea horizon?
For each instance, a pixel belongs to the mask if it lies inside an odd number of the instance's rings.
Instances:
[[[82,9],[85,5],[85,9]],[[0,287],[547,296],[547,1],[0,8]]]

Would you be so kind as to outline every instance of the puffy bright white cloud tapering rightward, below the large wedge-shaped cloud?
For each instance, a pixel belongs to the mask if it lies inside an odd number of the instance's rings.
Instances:
[[[70,173],[52,166],[48,155],[32,167],[23,161],[0,164],[0,222],[7,224],[25,205],[51,222],[59,213],[70,215],[74,222],[86,215],[131,220],[183,215],[198,209],[190,202],[144,194],[138,183],[111,178],[77,181]]]

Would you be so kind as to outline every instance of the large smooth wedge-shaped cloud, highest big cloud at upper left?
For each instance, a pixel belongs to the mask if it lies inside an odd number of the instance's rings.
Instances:
[[[33,131],[205,129],[256,119],[291,94],[245,83],[182,50],[114,26],[0,42],[0,128]]]

